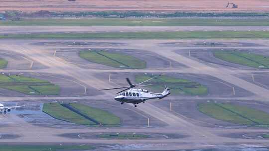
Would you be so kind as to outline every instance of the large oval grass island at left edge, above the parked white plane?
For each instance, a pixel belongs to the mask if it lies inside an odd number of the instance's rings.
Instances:
[[[41,80],[33,77],[26,77],[22,75],[0,75],[0,83],[7,82],[7,84],[14,85],[0,85],[1,88],[21,92],[28,95],[58,95],[60,87],[49,83],[49,81]],[[16,85],[16,83],[23,83]],[[35,83],[36,85],[31,85]],[[38,84],[51,84],[51,85],[38,85]]]

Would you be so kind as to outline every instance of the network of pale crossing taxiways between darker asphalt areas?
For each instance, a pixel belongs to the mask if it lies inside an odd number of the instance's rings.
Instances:
[[[100,27],[101,29],[101,27]],[[153,30],[153,29],[152,29]],[[28,60],[33,61],[34,63],[41,64],[46,68],[42,69],[21,69],[19,72],[37,72],[37,73],[46,73],[46,74],[55,74],[55,75],[65,75],[72,77],[75,81],[87,87],[92,87],[93,89],[102,89],[107,87],[114,87],[115,84],[109,82],[109,80],[103,80],[97,74],[107,74],[107,73],[185,73],[185,74],[203,74],[210,75],[214,78],[220,79],[227,83],[233,84],[237,87],[240,87],[246,91],[253,93],[251,96],[238,96],[233,99],[245,100],[245,101],[268,101],[269,100],[269,89],[262,87],[256,83],[245,80],[236,74],[252,74],[264,73],[267,74],[267,70],[257,71],[257,70],[234,70],[231,68],[226,68],[223,66],[208,66],[197,58],[191,56],[181,55],[177,53],[176,50],[180,49],[197,49],[197,48],[207,48],[207,47],[173,47],[169,45],[162,45],[161,43],[167,42],[184,42],[184,40],[85,40],[87,42],[117,42],[125,43],[126,45],[115,46],[113,48],[120,49],[137,49],[148,51],[151,53],[158,54],[159,56],[165,57],[173,62],[183,64],[185,67],[182,69],[178,68],[148,68],[141,70],[123,70],[123,69],[88,69],[80,68],[72,62],[68,62],[62,58],[54,56],[55,47],[54,46],[40,46],[33,45],[36,42],[61,42],[64,40],[1,40],[0,41],[0,50],[4,50],[10,53],[20,54],[27,57]],[[188,40],[190,41],[190,40]],[[198,42],[204,42],[204,40],[193,40]],[[207,40],[210,41],[210,40]],[[218,42],[251,42],[259,44],[262,46],[253,47],[255,49],[268,50],[268,40],[214,40]],[[80,46],[73,46],[72,48],[77,48]],[[64,47],[63,47],[64,48]],[[71,47],[68,47],[71,48]],[[110,48],[109,46],[99,46],[97,48]],[[212,48],[212,47],[208,47]],[[216,47],[222,48],[222,47]],[[228,48],[234,48],[226,46]],[[244,48],[244,47],[236,47]],[[13,69],[3,69],[0,72],[15,72],[17,70]],[[81,99],[99,99],[107,100],[108,103],[115,103],[113,99],[116,91],[105,91],[104,93],[98,93],[96,95],[89,96],[40,96],[40,97],[15,97],[15,96],[0,96],[2,101],[14,101],[14,100],[81,100]],[[181,96],[181,97],[171,97],[171,99],[199,99],[195,96]],[[230,97],[214,97],[208,96],[203,97],[203,99],[229,99]],[[165,99],[163,100],[165,101]],[[95,144],[163,144],[164,146],[152,147],[150,149],[164,149],[164,150],[174,150],[174,149],[190,149],[190,148],[210,148],[213,146],[223,146],[228,144],[237,144],[237,145],[260,145],[260,146],[269,146],[268,140],[258,140],[258,139],[245,139],[238,138],[234,139],[232,137],[227,137],[225,134],[232,133],[269,133],[268,129],[245,129],[245,128],[215,128],[215,127],[203,127],[196,125],[192,122],[191,119],[186,118],[185,116],[176,114],[169,111],[167,108],[162,108],[154,104],[154,101],[148,101],[146,103],[138,104],[138,107],[134,111],[143,114],[143,116],[149,118],[155,118],[162,123],[165,123],[166,126],[162,127],[149,127],[149,128],[136,128],[136,127],[120,127],[120,128],[53,128],[53,127],[40,127],[33,125],[29,122],[19,118],[14,114],[1,115],[3,126],[0,127],[0,133],[6,134],[10,132],[12,135],[19,135],[15,139],[1,139],[0,143],[12,143],[14,141],[20,143],[95,143]],[[126,104],[125,104],[126,105]],[[120,104],[119,104],[120,106]],[[124,108],[133,107],[132,104],[123,106]],[[4,125],[7,126],[4,126]],[[180,135],[186,135],[186,138],[176,138],[176,139],[141,139],[141,140],[103,140],[103,139],[72,139],[68,137],[62,137],[63,134],[68,133],[108,133],[108,132],[137,132],[137,133],[174,133]]]

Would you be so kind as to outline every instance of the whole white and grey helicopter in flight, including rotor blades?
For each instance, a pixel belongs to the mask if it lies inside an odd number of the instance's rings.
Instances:
[[[101,91],[103,90],[112,90],[112,89],[122,89],[125,88],[124,90],[118,92],[117,94],[121,93],[120,95],[116,96],[114,99],[116,101],[121,102],[121,104],[124,103],[133,103],[134,107],[137,107],[136,104],[139,104],[141,102],[145,102],[146,100],[149,99],[162,99],[166,96],[168,96],[170,94],[170,88],[166,87],[164,89],[164,91],[162,93],[153,93],[153,92],[149,92],[146,89],[143,88],[134,88],[136,86],[138,87],[142,87],[142,86],[149,86],[149,85],[153,85],[153,84],[147,84],[147,85],[141,85],[157,76],[161,76],[161,75],[156,75],[153,76],[145,81],[142,81],[138,84],[133,84],[130,79],[127,77],[126,80],[129,83],[130,86],[125,86],[125,87],[116,87],[116,88],[107,88],[107,89],[100,89]]]

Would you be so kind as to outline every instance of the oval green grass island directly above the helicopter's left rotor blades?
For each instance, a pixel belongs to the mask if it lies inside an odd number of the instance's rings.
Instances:
[[[96,51],[80,51],[79,56],[90,62],[107,65],[115,68],[141,69],[146,68],[146,62],[139,60],[133,56]]]

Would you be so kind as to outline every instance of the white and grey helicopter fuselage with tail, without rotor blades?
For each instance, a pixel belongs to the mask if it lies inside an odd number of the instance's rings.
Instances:
[[[152,93],[148,92],[142,88],[132,88],[128,91],[121,93],[121,95],[116,96],[114,99],[123,103],[133,103],[138,104],[145,102],[148,99],[162,99],[170,94],[169,88],[166,88],[162,93]]]

